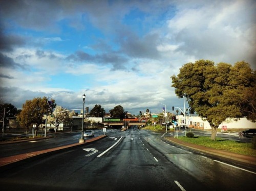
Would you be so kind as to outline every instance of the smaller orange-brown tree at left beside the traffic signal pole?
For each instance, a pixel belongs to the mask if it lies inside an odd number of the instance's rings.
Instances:
[[[54,105],[55,101],[51,100]],[[33,100],[27,100],[23,104],[22,111],[17,115],[17,120],[20,126],[25,128],[27,131],[36,125],[35,135],[37,135],[38,126],[44,122],[44,115],[51,112],[49,104],[47,104],[47,98],[34,98]]]

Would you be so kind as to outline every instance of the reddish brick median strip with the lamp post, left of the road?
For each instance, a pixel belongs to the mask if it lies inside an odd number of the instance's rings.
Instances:
[[[38,156],[38,155],[42,155],[42,154],[46,154],[46,153],[50,153],[50,152],[55,152],[55,151],[59,151],[59,150],[62,150],[62,149],[68,149],[68,148],[73,148],[73,147],[85,145],[88,142],[93,142],[93,141],[99,140],[99,139],[104,138],[104,137],[106,137],[106,135],[101,135],[101,136],[91,138],[89,140],[86,140],[86,142],[83,142],[83,143],[77,143],[77,144],[52,148],[52,149],[46,149],[46,150],[42,150],[42,151],[35,151],[35,152],[31,152],[31,153],[24,153],[24,154],[19,154],[19,155],[15,155],[15,156],[0,158],[0,167],[5,166],[7,164],[17,162],[17,161],[21,161],[21,160],[24,160],[24,159],[35,157],[35,156]]]

